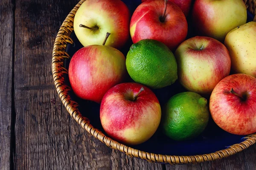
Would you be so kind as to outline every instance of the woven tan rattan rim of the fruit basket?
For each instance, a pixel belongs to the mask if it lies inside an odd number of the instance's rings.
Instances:
[[[58,96],[61,98],[62,103],[66,107],[70,115],[79,123],[87,132],[99,139],[101,142],[105,143],[108,147],[119,150],[128,156],[137,157],[144,159],[150,162],[159,162],[159,163],[168,163],[168,164],[188,164],[188,163],[200,163],[204,161],[212,161],[216,159],[221,159],[235,153],[240,152],[241,150],[246,149],[252,144],[256,143],[256,133],[246,137],[244,142],[240,144],[233,144],[225,150],[220,150],[215,153],[209,153],[204,155],[195,155],[195,156],[168,156],[160,155],[154,153],[147,153],[141,150],[134,149],[132,147],[125,146],[120,144],[113,139],[105,136],[101,131],[94,128],[90,125],[89,119],[83,117],[78,110],[78,104],[71,100],[68,92],[71,91],[71,88],[66,85],[64,82],[64,74],[68,74],[68,70],[64,68],[64,59],[70,58],[69,55],[65,52],[67,48],[67,43],[73,44],[73,40],[70,38],[70,34],[73,31],[73,21],[76,11],[81,6],[85,0],[81,0],[68,14],[67,18],[64,20],[61,28],[59,29],[58,35],[55,39],[53,52],[52,52],[52,74],[54,84],[58,93]],[[256,20],[256,0],[244,0],[246,3],[247,9],[254,14],[254,20]]]

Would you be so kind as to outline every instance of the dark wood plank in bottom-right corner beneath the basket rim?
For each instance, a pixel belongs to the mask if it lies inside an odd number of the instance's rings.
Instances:
[[[201,164],[166,165],[166,170],[256,170],[256,145],[227,158]]]

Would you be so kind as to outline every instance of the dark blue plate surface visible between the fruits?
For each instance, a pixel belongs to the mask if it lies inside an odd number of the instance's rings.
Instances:
[[[131,14],[137,8],[137,6],[141,3],[141,0],[123,0],[126,3],[128,8],[131,11]],[[190,15],[191,16],[191,15]],[[190,20],[188,18],[188,20]],[[248,22],[253,20],[253,15],[248,12]],[[191,23],[189,24],[189,33],[187,38],[195,36],[194,31],[191,27]],[[78,51],[83,46],[76,38],[74,32],[70,35],[74,44],[67,45],[67,53],[70,57]],[[126,56],[130,46],[132,44],[131,38],[125,45],[125,47],[121,50],[123,54]],[[69,60],[65,60],[64,62],[65,68],[68,69]],[[129,79],[128,81],[132,81]],[[65,77],[65,82],[69,83],[68,75]],[[159,99],[160,105],[163,106],[167,100],[172,97],[174,94],[186,91],[182,86],[175,82],[173,85],[170,85],[166,88],[152,90],[157,98]],[[104,130],[101,126],[100,119],[99,119],[99,107],[100,105],[91,102],[79,99],[76,97],[73,92],[70,92],[71,99],[79,103],[79,111],[85,117],[90,120],[90,123],[93,127],[101,130],[104,133]],[[209,98],[208,98],[209,99]],[[189,127],[188,127],[189,128]],[[160,130],[154,134],[147,142],[137,145],[131,146],[134,149],[142,150],[149,153],[156,153],[162,155],[176,155],[176,156],[191,156],[191,155],[202,155],[207,153],[213,153],[218,150],[223,150],[228,148],[230,145],[238,144],[243,142],[245,136],[233,135],[227,133],[226,131],[219,128],[212,119],[209,120],[209,124],[204,132],[195,139],[183,141],[183,142],[176,142],[172,139],[167,138],[164,136]]]

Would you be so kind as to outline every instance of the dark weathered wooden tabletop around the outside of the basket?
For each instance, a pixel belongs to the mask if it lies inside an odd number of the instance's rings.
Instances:
[[[0,169],[254,170],[256,145],[218,161],[153,164],[106,147],[69,116],[55,90],[52,48],[78,0],[0,1]]]

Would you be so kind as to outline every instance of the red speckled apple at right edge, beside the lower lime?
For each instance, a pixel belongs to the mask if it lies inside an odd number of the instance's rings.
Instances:
[[[230,93],[231,88],[247,100]],[[249,135],[256,133],[256,78],[247,74],[233,74],[212,91],[209,109],[214,122],[229,133]]]

